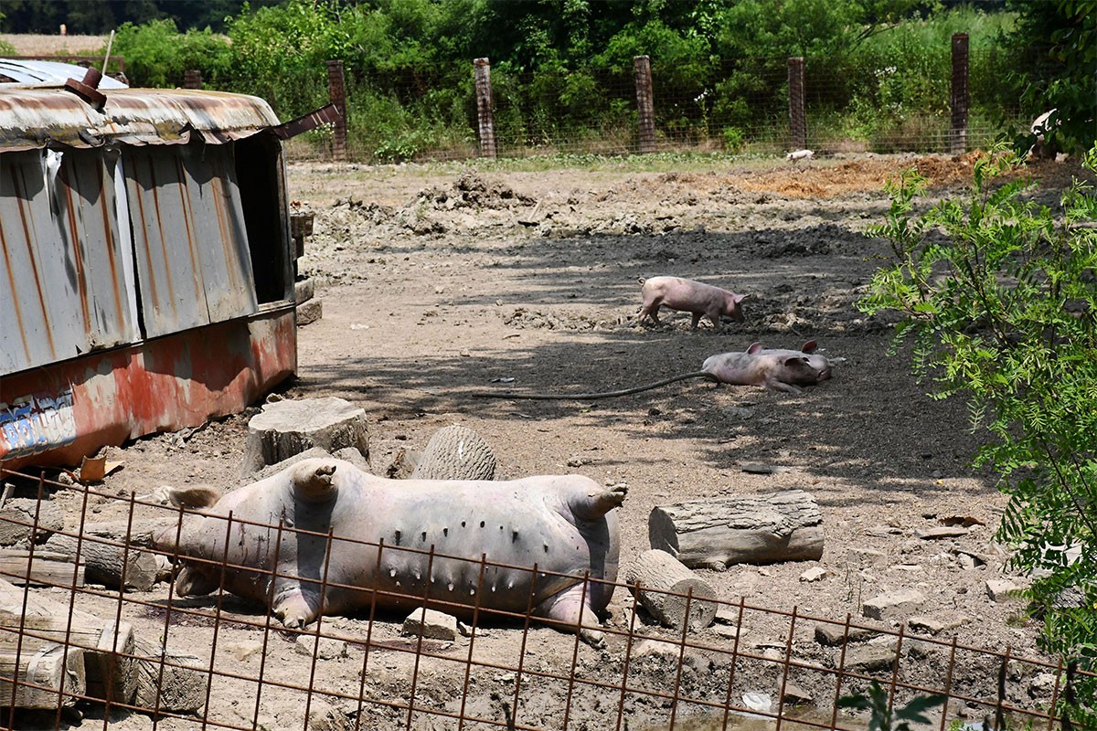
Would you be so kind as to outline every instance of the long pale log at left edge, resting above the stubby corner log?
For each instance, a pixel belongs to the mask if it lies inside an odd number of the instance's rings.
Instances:
[[[113,618],[103,619],[80,609],[70,612],[67,603],[0,581],[0,649],[14,652],[19,647],[21,654],[29,656],[54,644],[82,651],[83,693],[129,703],[136,677],[134,632],[128,623],[116,624]]]

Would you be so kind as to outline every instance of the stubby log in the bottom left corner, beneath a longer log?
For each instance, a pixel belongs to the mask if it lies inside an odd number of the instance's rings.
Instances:
[[[83,672],[83,650],[80,648],[49,644],[27,652],[2,647],[0,701],[15,708],[71,706],[77,701],[73,696],[83,695],[87,689]]]

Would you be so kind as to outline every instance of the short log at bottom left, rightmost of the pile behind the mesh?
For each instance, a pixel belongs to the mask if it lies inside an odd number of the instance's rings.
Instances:
[[[134,705],[150,711],[196,711],[205,705],[205,663],[192,654],[137,639]]]

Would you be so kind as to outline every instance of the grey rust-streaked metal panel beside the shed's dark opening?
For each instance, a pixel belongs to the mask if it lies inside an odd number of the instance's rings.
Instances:
[[[256,312],[231,150],[129,149],[125,170],[146,334]]]

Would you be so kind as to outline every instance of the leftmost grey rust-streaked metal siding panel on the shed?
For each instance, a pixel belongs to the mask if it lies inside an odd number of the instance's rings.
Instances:
[[[139,339],[132,256],[117,230],[116,158],[0,156],[0,373]]]

